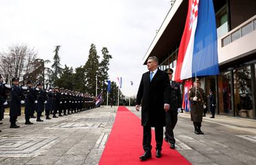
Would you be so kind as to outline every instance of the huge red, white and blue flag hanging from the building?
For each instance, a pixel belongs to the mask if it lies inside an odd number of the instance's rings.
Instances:
[[[218,75],[218,48],[212,0],[189,0],[174,80]]]

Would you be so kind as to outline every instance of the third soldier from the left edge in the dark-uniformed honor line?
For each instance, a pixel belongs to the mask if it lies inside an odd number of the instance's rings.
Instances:
[[[37,88],[37,91],[39,92],[39,89]],[[28,81],[27,82],[27,97],[25,99],[25,124],[33,124],[29,121],[30,116],[32,116],[35,104],[38,102],[36,100],[36,91],[33,88],[33,82]]]

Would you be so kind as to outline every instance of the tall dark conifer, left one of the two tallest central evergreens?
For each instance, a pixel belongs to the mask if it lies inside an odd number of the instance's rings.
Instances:
[[[95,44],[91,44],[88,60],[85,63],[85,86],[89,94],[95,93],[96,75],[98,74],[99,58]]]

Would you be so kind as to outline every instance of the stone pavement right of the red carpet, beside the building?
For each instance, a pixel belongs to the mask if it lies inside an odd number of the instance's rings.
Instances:
[[[140,117],[134,107],[127,108]],[[210,116],[203,117],[205,135],[196,135],[190,114],[178,114],[174,135],[179,153],[192,164],[256,164],[256,121]]]

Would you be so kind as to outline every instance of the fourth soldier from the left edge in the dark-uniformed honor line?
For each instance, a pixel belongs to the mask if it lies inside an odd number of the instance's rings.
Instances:
[[[38,96],[37,96],[37,101],[38,103],[36,104],[36,113],[37,113],[37,122],[43,122],[42,119],[40,119],[42,112],[45,110],[45,104],[47,103],[46,101],[46,93],[43,90],[43,84],[42,83],[38,83],[37,88],[39,88],[39,92],[38,92]]]

